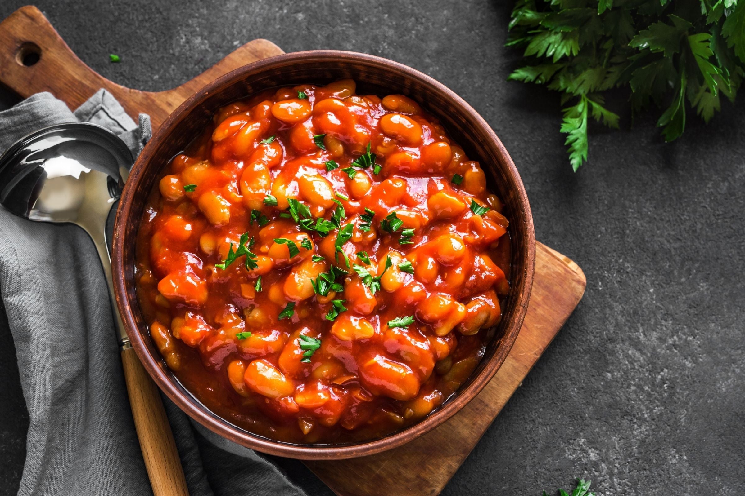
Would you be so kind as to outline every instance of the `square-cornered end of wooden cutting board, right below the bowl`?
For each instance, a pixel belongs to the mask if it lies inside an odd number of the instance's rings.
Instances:
[[[533,293],[522,329],[496,376],[434,431],[370,457],[305,461],[340,496],[437,495],[533,368],[585,292],[585,274],[536,242]]]

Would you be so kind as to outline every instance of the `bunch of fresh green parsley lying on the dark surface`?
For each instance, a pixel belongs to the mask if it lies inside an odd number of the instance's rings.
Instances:
[[[685,130],[686,113],[705,122],[734,101],[745,76],[745,0],[518,0],[508,46],[524,64],[508,79],[561,94],[569,162],[587,160],[589,117],[617,128],[605,95],[623,88],[633,115],[661,107],[665,141]]]

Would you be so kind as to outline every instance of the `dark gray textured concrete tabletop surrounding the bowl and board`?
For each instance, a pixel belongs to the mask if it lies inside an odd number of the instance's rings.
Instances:
[[[0,1],[0,18],[22,4]],[[506,81],[519,59],[502,46],[511,1],[37,4],[84,62],[125,86],[177,86],[263,37],[403,62],[491,124],[522,174],[536,237],[576,260],[588,286],[443,494],[537,496],[574,477],[602,495],[745,493],[745,95],[706,126],[689,114],[674,144],[654,116],[631,127],[623,114],[621,131],[592,129],[591,163],[574,174],[557,97]],[[0,105],[13,101],[0,91]],[[1,313],[0,494],[11,495],[28,415]],[[301,464],[283,465],[330,494]]]

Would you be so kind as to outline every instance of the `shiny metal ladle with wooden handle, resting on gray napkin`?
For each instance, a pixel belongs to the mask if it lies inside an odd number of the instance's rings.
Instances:
[[[93,240],[109,286],[124,380],[153,493],[188,495],[157,387],[135,355],[116,311],[110,221],[132,164],[124,141],[104,127],[64,123],[39,129],[0,157],[0,204],[25,219],[79,225]]]

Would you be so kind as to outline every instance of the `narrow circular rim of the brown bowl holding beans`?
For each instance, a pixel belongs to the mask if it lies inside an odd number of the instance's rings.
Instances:
[[[246,74],[253,74],[259,71],[265,71],[268,68],[276,66],[285,66],[290,64],[303,64],[305,62],[348,62],[350,64],[363,64],[384,69],[385,71],[395,71],[402,76],[416,80],[422,86],[428,87],[429,90],[440,93],[446,100],[449,100],[454,106],[460,107],[467,118],[484,131],[484,135],[489,138],[489,144],[486,146],[495,150],[496,155],[503,164],[503,173],[510,177],[516,186],[516,195],[518,204],[523,210],[524,232],[527,239],[524,241],[525,264],[523,267],[522,285],[513,287],[512,291],[518,292],[513,297],[516,298],[515,313],[512,321],[507,323],[502,336],[502,342],[498,346],[494,355],[484,363],[484,367],[477,376],[471,376],[470,383],[463,389],[458,390],[457,396],[447,402],[442,408],[436,410],[431,415],[426,416],[420,422],[389,434],[381,439],[358,442],[350,445],[297,445],[280,441],[274,441],[261,437],[257,434],[244,431],[243,429],[233,426],[229,421],[212,413],[206,406],[197,407],[194,402],[187,399],[186,395],[177,387],[168,377],[168,373],[162,369],[145,346],[145,333],[141,332],[133,316],[133,309],[130,307],[127,298],[127,284],[124,267],[124,230],[129,222],[130,212],[135,200],[134,184],[142,179],[142,173],[146,167],[151,166],[151,158],[156,146],[164,141],[171,132],[171,127],[179,123],[184,117],[194,111],[197,106],[212,95],[216,89],[227,86],[230,81],[241,80]],[[515,189],[515,188],[510,188]],[[127,336],[130,344],[134,347],[137,356],[142,361],[143,367],[148,371],[150,377],[156,382],[160,390],[171,399],[181,410],[188,416],[205,426],[209,430],[221,435],[226,439],[244,445],[247,448],[256,449],[267,454],[278,455],[282,457],[291,457],[300,460],[341,460],[344,458],[364,457],[367,455],[377,454],[399,445],[409,442],[416,437],[425,434],[428,431],[443,424],[451,416],[460,411],[468,404],[486,384],[491,381],[495,373],[504,364],[505,358],[513,347],[513,344],[519,334],[520,328],[527,312],[527,304],[530,300],[530,291],[533,286],[533,271],[535,265],[535,231],[533,227],[533,216],[530,211],[530,204],[527,199],[522,184],[522,179],[513,163],[507,149],[501,143],[494,130],[486,123],[484,117],[478,114],[469,103],[458,96],[454,91],[438,82],[434,78],[410,68],[402,63],[390,59],[376,57],[370,54],[361,54],[352,51],[336,50],[313,50],[292,52],[289,54],[280,54],[274,57],[268,57],[256,62],[241,66],[240,68],[230,71],[221,77],[207,83],[199,91],[188,97],[180,106],[177,107],[163,121],[163,123],[153,133],[152,138],[142,149],[139,157],[132,167],[129,178],[124,185],[124,190],[119,201],[115,218],[114,237],[112,240],[112,274],[114,280],[115,300],[118,306],[121,320],[127,330]],[[149,339],[150,337],[147,336]],[[200,402],[197,401],[199,405]],[[219,422],[218,419],[223,420]]]

